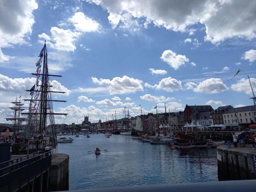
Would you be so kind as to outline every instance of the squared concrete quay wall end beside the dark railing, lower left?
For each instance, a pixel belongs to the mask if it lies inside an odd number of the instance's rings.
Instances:
[[[69,190],[69,155],[52,154],[49,170],[49,191]]]

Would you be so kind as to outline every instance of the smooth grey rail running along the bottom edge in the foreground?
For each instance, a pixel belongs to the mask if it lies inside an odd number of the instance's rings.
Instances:
[[[97,187],[97,186],[96,186]],[[255,192],[256,180],[240,181],[218,181],[207,183],[179,183],[179,184],[162,184],[162,185],[143,185],[130,187],[99,188],[79,190],[79,192]],[[69,192],[78,192],[69,190]]]

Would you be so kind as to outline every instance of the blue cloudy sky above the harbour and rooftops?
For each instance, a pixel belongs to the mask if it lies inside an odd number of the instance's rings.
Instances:
[[[0,0],[0,123],[46,40],[56,123],[252,105],[256,1]],[[241,72],[231,79],[238,71]],[[230,80],[231,79],[231,80]],[[28,105],[28,103],[26,103]],[[9,122],[10,123],[10,122]]]

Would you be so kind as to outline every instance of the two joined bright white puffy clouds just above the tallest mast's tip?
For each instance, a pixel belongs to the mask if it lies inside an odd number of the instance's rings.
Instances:
[[[46,33],[39,34],[38,37],[43,40],[48,40],[50,47],[58,51],[75,51],[75,42],[78,38],[87,32],[99,32],[100,24],[94,19],[84,15],[82,12],[76,12],[68,19],[68,23],[74,25],[75,29],[61,29],[52,27],[51,36]]]

